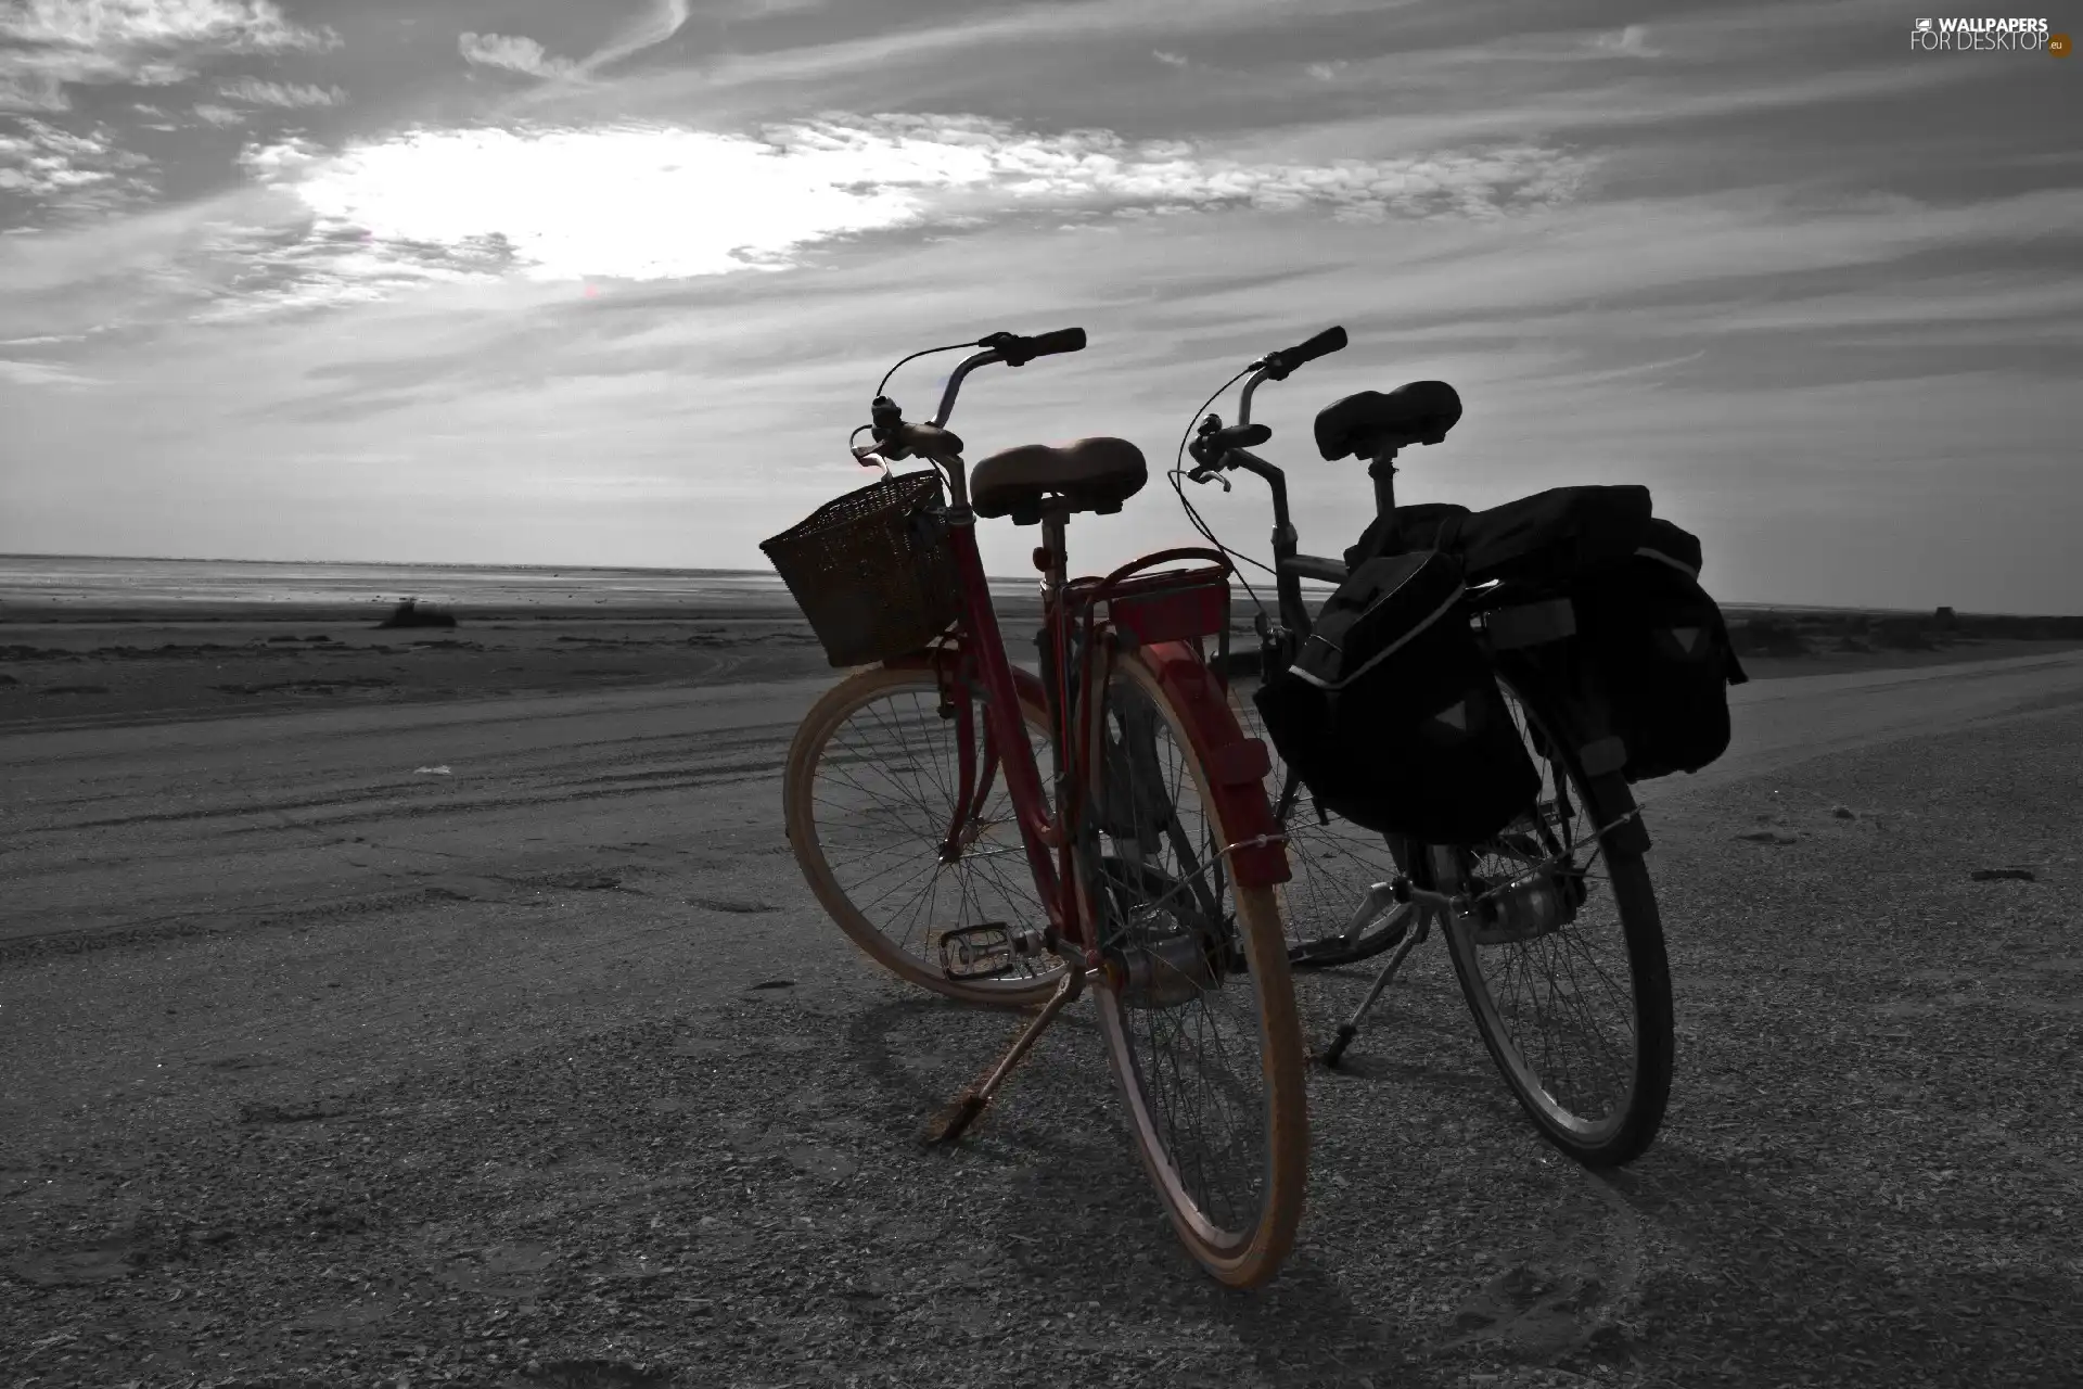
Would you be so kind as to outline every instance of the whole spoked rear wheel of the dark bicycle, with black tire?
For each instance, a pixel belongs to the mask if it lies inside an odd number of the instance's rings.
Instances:
[[[1539,800],[1489,843],[1433,848],[1433,870],[1469,891],[1525,883],[1558,910],[1548,923],[1452,918],[1448,950],[1483,1045],[1535,1127],[1585,1166],[1618,1166],[1656,1141],[1671,1095],[1656,889],[1641,854],[1598,843],[1598,804],[1558,723],[1500,685],[1529,750],[1546,750]]]

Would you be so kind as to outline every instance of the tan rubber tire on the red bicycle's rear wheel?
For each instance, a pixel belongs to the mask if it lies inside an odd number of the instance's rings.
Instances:
[[[1127,687],[1133,687],[1154,706],[1179,743],[1183,771],[1191,777],[1194,791],[1208,812],[1208,829],[1212,833],[1204,837],[1204,843],[1233,843],[1229,827],[1223,823],[1221,802],[1212,795],[1208,773],[1200,762],[1200,754],[1194,752],[1196,746],[1208,746],[1198,743],[1196,733],[1206,737],[1208,731],[1191,727],[1191,714],[1171,700],[1141,654],[1125,656],[1112,668]],[[1116,683],[1106,683],[1106,693],[1098,702],[1094,718],[1102,723],[1108,718],[1108,712],[1121,704],[1116,698],[1119,689]],[[1229,731],[1221,733],[1227,735]],[[1104,795],[1108,771],[1102,737],[1091,739],[1087,775],[1087,785],[1098,787],[1094,795]],[[1173,791],[1175,798],[1181,793],[1183,785]],[[1131,789],[1131,800],[1135,795]],[[1177,806],[1169,814],[1177,820]],[[1087,820],[1079,843],[1079,889],[1085,902],[1085,918],[1104,925],[1110,918],[1100,904],[1110,891],[1121,887],[1121,875],[1108,877],[1096,841],[1098,831]],[[1210,862],[1221,862],[1221,858],[1210,856]],[[1139,873],[1150,870],[1139,868]],[[1260,1041],[1256,1077],[1262,1085],[1262,1104],[1256,1108],[1264,1152],[1258,1164],[1262,1189],[1248,1220],[1239,1218],[1235,1224],[1221,1224],[1219,1216],[1210,1212],[1212,1202],[1208,1193],[1189,1189],[1206,1179],[1206,1164],[1181,1162],[1181,1154],[1175,1152],[1181,1129],[1173,1122],[1169,1110],[1164,1110],[1164,1095],[1160,1093],[1166,1077],[1162,1068],[1156,1068],[1158,1075],[1152,1079],[1137,1064],[1137,1045],[1131,1041],[1133,1029],[1127,1016],[1135,1010],[1133,993],[1119,989],[1108,970],[1102,968],[1100,979],[1094,983],[1094,1002],[1100,1014],[1100,1033],[1106,1039],[1108,1062],[1129,1118],[1129,1131],[1141,1156],[1144,1170],[1150,1175],[1164,1206],[1164,1214],[1171,1218],[1187,1252],[1216,1281],[1229,1287],[1256,1287],[1279,1272],[1279,1266],[1294,1249],[1296,1229],[1302,1220],[1308,1181],[1306,1052],[1296,1012],[1294,981],[1287,973],[1279,902],[1273,889],[1237,887],[1229,879],[1227,866],[1210,868],[1208,873],[1225,883],[1233,895],[1235,910],[1231,920],[1235,923],[1235,941],[1244,948],[1244,968],[1231,973],[1214,991],[1196,989],[1189,1002],[1204,1004],[1210,993],[1219,995],[1225,989],[1252,989],[1252,1012],[1256,1014]],[[1106,958],[1110,941],[1104,933],[1100,945],[1102,958]],[[1166,1014],[1173,1012],[1173,1006],[1158,1004],[1144,1012],[1154,1016]],[[1177,1029],[1177,1022],[1171,1027]],[[1219,1029],[1221,1025],[1212,1027]],[[1177,1075],[1177,1068],[1171,1075]],[[1185,1089],[1212,1095],[1219,1083],[1202,1081],[1198,1087],[1181,1087],[1181,1095]],[[1198,1125],[1194,1131],[1198,1133]],[[1189,1166],[1191,1175],[1187,1172]]]

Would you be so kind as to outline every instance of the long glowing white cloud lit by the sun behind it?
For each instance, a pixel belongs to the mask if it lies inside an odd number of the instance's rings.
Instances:
[[[960,233],[1035,212],[1491,219],[1562,202],[1583,175],[1581,160],[1537,146],[1264,165],[1185,142],[908,115],[760,135],[673,125],[412,131],[337,154],[254,146],[244,162],[308,210],[321,244],[304,264],[329,267],[340,283],[381,279],[394,258],[417,279],[431,250],[458,256],[458,275],[544,281],[775,271],[833,239]]]

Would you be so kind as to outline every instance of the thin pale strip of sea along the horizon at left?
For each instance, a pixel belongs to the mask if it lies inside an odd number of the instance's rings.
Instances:
[[[1031,594],[1031,579],[992,579]],[[358,564],[0,554],[6,608],[179,608],[183,604],[350,606],[417,598],[450,608],[794,606],[773,571],[585,569],[548,564]]]

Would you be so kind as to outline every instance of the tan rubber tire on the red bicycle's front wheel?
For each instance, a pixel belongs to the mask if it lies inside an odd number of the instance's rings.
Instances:
[[[827,756],[833,748],[835,737],[846,727],[848,718],[858,710],[867,708],[881,696],[914,691],[921,698],[931,700],[935,706],[939,702],[939,683],[935,675],[925,666],[873,666],[858,671],[831,689],[810,712],[804,716],[802,725],[796,729],[796,737],[789,743],[787,771],[781,783],[781,816],[787,827],[787,841],[796,854],[796,864],[802,868],[804,881],[810,885],[810,893],[817,898],[819,906],[831,916],[831,920],[846,933],[846,937],[862,950],[871,960],[887,968],[898,979],[914,983],[921,989],[931,989],[944,997],[952,997],[964,1004],[981,1004],[989,1008],[1031,1008],[1044,1002],[1056,987],[1062,975],[1062,964],[1054,958],[1044,960],[1048,968],[1037,970],[1025,979],[983,979],[983,981],[960,981],[948,979],[944,973],[931,968],[925,958],[908,950],[904,941],[892,939],[889,933],[871,918],[871,910],[856,904],[852,893],[842,887],[839,877],[833,868],[831,854],[827,854],[825,833],[817,818],[817,775],[819,768],[827,764]],[[983,718],[983,691],[975,691],[977,708],[973,718],[981,729]],[[1021,702],[1021,712],[1027,721],[1031,735],[1039,735],[1042,743],[1048,743],[1048,712],[1035,704]],[[946,729],[956,727],[952,721],[944,721]],[[981,737],[979,737],[981,741]],[[1044,777],[1046,777],[1044,768]],[[998,777],[998,795],[1004,798],[1004,777]],[[948,804],[952,812],[952,802]],[[931,825],[931,820],[925,820]],[[946,823],[939,825],[946,829]],[[1019,845],[1017,823],[1012,825],[1010,843]],[[929,850],[937,862],[937,850]],[[960,864],[962,860],[956,860]],[[937,873],[937,870],[935,870]],[[1046,914],[1039,898],[1033,893],[1033,877],[1027,866],[1025,854],[1021,852],[1000,875],[992,887],[994,902],[1012,904],[1021,889],[1025,889],[1025,900],[1019,902],[1035,920],[1046,925]],[[869,904],[871,908],[875,904]],[[979,906],[977,893],[960,889],[960,908],[971,912]],[[979,912],[981,914],[981,912]],[[975,925],[975,923],[962,923]]]

